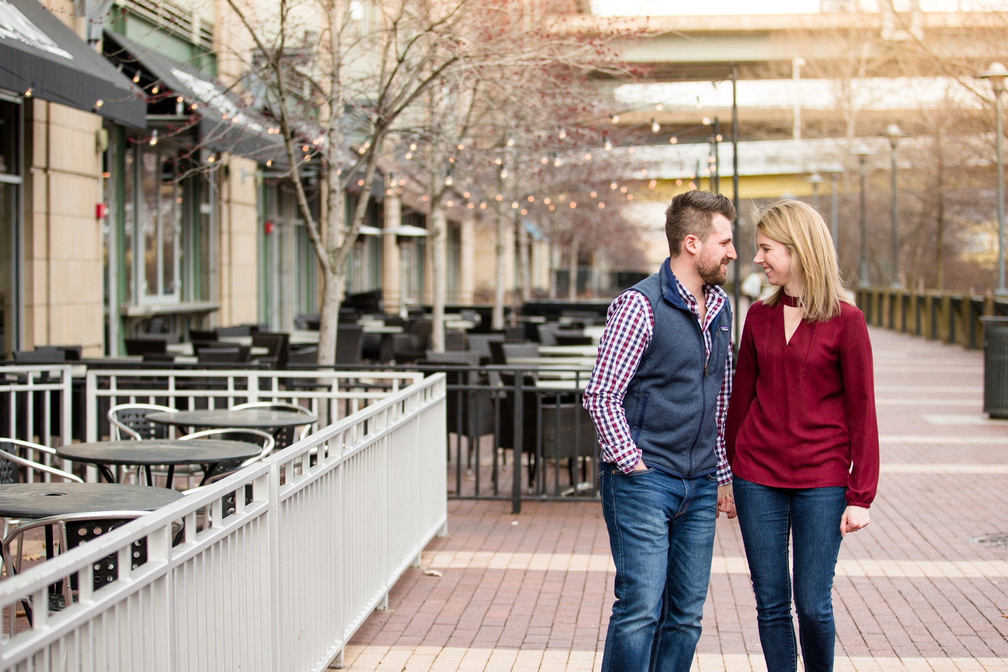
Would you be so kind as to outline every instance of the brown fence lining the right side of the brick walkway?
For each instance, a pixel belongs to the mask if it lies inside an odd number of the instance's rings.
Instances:
[[[1008,315],[1008,298],[993,294],[863,287],[855,291],[869,324],[977,350],[984,315]]]

